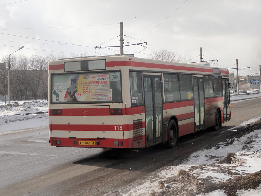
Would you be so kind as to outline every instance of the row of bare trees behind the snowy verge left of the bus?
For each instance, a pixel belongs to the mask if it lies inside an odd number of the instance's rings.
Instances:
[[[17,100],[27,99],[33,96],[37,100],[38,95],[48,97],[48,64],[51,60],[57,60],[64,55],[49,56],[10,56],[10,87],[11,95]],[[0,94],[8,92],[8,55],[1,57],[3,62],[0,67]],[[4,63],[6,66],[4,66]],[[11,98],[11,97],[10,97]],[[5,99],[6,100],[6,99]]]

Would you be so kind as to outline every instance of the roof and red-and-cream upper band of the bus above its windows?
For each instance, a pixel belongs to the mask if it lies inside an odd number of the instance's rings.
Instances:
[[[92,61],[92,60],[106,60],[106,68],[110,69],[119,68],[122,66],[128,66],[130,70],[146,70],[146,71],[171,71],[182,73],[194,73],[194,74],[217,74],[222,76],[228,76],[228,69],[220,67],[211,67],[209,64],[197,65],[197,64],[185,64],[179,62],[159,61],[153,59],[144,59],[133,57],[131,55],[123,56],[97,56],[97,57],[83,57],[62,59],[57,61],[51,61],[49,63],[49,70],[64,70],[64,62],[74,61]],[[91,70],[93,71],[93,70]]]

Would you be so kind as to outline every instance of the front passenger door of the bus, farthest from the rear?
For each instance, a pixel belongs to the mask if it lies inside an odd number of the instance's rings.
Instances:
[[[229,79],[222,79],[223,87],[223,122],[230,120]]]

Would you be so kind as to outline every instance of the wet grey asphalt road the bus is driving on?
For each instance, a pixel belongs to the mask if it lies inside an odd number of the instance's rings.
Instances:
[[[132,150],[49,146],[48,129],[0,136],[0,195],[103,195],[187,155],[233,137],[230,128],[261,115],[261,98],[231,103],[232,120],[219,131],[180,137],[174,149],[162,145]],[[242,131],[238,134],[244,134]]]

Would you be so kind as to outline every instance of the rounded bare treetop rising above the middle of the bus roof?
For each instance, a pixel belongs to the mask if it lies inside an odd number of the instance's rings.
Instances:
[[[183,62],[181,56],[178,56],[177,53],[167,49],[153,51],[151,54],[147,55],[147,58],[160,61]]]

